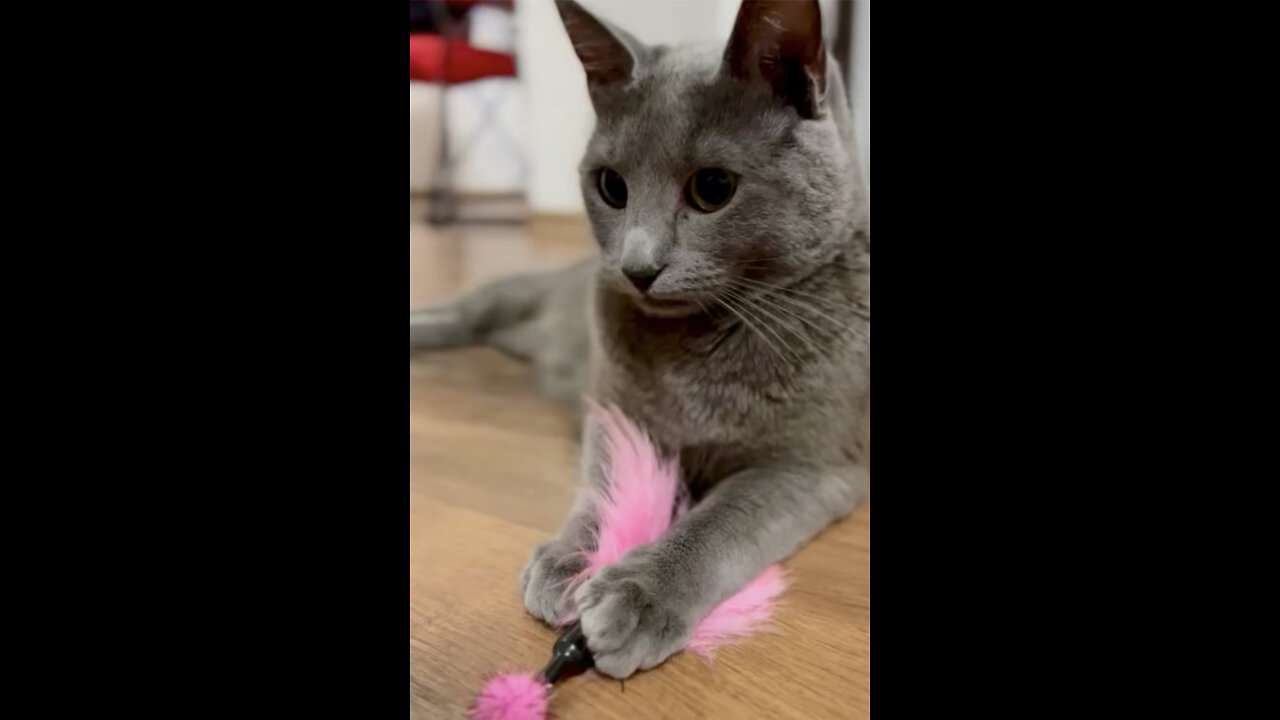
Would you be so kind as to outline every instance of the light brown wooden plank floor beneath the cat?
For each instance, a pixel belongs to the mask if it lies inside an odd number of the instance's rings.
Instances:
[[[410,306],[586,252],[577,224],[433,232],[410,224]],[[522,365],[486,350],[410,360],[410,717],[461,719],[483,679],[536,670],[554,634],[527,618],[516,574],[572,497],[572,419]],[[870,717],[870,509],[787,562],[776,630],[681,655],[622,683],[594,674],[557,691],[556,720]]]

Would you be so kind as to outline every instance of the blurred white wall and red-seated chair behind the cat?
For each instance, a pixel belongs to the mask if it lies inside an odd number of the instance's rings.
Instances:
[[[724,42],[739,0],[581,0],[650,45]],[[870,184],[870,1],[824,0]],[[522,223],[582,213],[586,82],[552,0],[410,1],[410,219]]]

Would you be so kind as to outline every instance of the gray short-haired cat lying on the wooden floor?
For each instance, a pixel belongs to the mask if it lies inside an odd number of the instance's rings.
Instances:
[[[627,678],[870,501],[870,210],[817,1],[746,0],[727,47],[676,49],[558,6],[598,115],[598,258],[411,313],[410,350],[531,359],[550,395],[586,389],[680,454],[694,510],[573,596],[596,667]],[[588,424],[585,487],[600,455]],[[582,569],[586,498],[520,574],[543,620]]]

